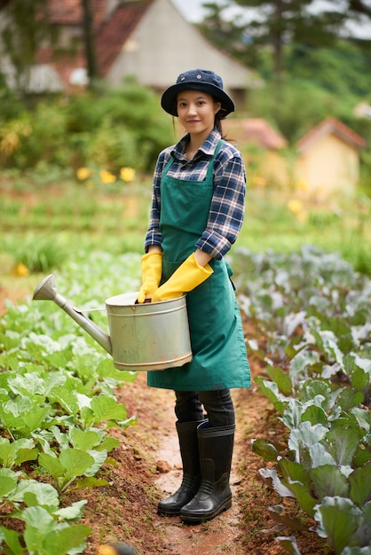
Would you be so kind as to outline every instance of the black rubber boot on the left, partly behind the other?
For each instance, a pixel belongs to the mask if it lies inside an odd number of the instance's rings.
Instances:
[[[158,504],[157,512],[162,516],[177,516],[183,505],[187,504],[201,484],[200,453],[197,427],[204,422],[177,422],[180,455],[183,463],[183,480],[180,488]]]

